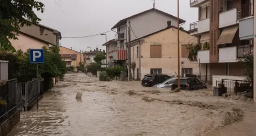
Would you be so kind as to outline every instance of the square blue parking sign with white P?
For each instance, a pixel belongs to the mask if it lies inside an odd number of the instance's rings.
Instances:
[[[43,49],[30,49],[30,63],[44,63],[45,52]]]

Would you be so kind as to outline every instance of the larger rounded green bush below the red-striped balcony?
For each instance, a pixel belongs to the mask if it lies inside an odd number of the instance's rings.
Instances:
[[[121,71],[127,71],[126,67],[124,66],[111,66],[107,67],[106,72],[109,77],[119,77],[121,74]]]

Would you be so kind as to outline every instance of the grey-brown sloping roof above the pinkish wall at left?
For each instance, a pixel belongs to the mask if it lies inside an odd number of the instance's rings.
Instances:
[[[28,19],[26,19],[26,21],[30,22],[32,25],[31,26],[24,25],[23,27],[21,27],[19,29],[20,33],[22,33],[26,36],[30,36],[34,39],[41,41],[41,42],[45,42],[47,44],[52,44],[55,46],[57,45],[57,41],[56,41],[57,38],[61,39],[60,31],[57,31],[57,30],[47,27],[45,25],[41,25],[39,23],[33,24]],[[44,31],[44,33],[42,34],[40,32],[41,27],[48,29],[48,31]]]

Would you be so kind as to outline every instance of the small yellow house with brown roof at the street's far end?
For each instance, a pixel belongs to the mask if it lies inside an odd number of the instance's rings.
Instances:
[[[77,54],[60,54],[60,57],[66,62],[66,67],[77,66]]]

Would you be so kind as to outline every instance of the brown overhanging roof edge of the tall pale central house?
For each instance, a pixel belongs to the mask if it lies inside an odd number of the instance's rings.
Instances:
[[[130,17],[127,17],[127,18],[125,18],[125,19],[120,20],[120,21],[119,21],[117,24],[115,24],[111,29],[115,29],[115,28],[117,28],[117,27],[119,27],[119,26],[125,25],[125,24],[127,23],[127,20],[128,20],[128,19],[133,18],[133,17],[137,17],[137,16],[139,16],[139,15],[142,15],[142,14],[144,14],[144,13],[148,13],[148,12],[150,12],[150,11],[156,11],[156,12],[158,12],[158,13],[167,15],[167,16],[172,17],[172,18],[174,18],[174,19],[178,19],[177,17],[175,17],[175,16],[173,16],[173,15],[171,15],[171,14],[165,13],[165,12],[163,12],[163,11],[161,11],[161,10],[156,9],[156,8],[151,8],[151,9],[149,9],[149,10],[145,10],[145,11],[143,11],[143,12],[141,12],[141,13],[138,13],[138,14],[135,14],[135,15],[132,15],[132,16],[130,16]],[[179,19],[179,23],[180,23],[180,24],[181,24],[181,23],[185,23],[185,22],[186,22],[185,20]]]

